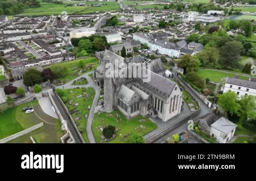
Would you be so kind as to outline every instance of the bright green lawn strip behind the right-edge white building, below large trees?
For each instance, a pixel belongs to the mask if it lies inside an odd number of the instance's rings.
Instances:
[[[204,80],[206,78],[209,78],[210,81],[216,82],[216,83],[220,83],[221,82],[221,78],[223,77],[234,77],[235,74],[234,73],[227,73],[227,72],[219,72],[219,71],[215,71],[215,70],[199,70],[197,72],[197,74],[203,78]],[[245,80],[249,80],[249,77],[245,77],[240,75],[239,76],[240,79],[245,79]]]

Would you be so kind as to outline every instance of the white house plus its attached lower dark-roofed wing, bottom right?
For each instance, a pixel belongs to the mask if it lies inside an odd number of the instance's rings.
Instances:
[[[227,118],[214,113],[206,114],[199,119],[200,127],[219,143],[226,143],[235,134],[236,124]]]

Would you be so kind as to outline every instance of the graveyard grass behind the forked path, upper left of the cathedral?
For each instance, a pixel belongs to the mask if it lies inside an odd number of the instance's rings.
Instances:
[[[78,63],[80,62],[80,60],[83,60],[85,62],[85,67],[83,69],[78,67]],[[46,68],[51,68],[54,66],[67,67],[67,74],[63,78],[58,79],[58,80],[62,81],[63,83],[67,83],[67,82],[77,78],[78,76],[84,74],[85,72],[90,72],[90,71],[94,70],[96,67],[98,67],[98,65],[99,65],[99,61],[98,61],[98,59],[96,59],[96,57],[88,57],[86,59],[76,59],[76,60],[72,60],[69,62],[63,62],[60,64],[50,65],[50,66],[47,66]],[[72,68],[74,68],[74,67],[77,67],[77,69],[72,70]],[[80,70],[83,70],[83,72],[80,72]],[[60,85],[60,84],[56,83],[56,85]]]

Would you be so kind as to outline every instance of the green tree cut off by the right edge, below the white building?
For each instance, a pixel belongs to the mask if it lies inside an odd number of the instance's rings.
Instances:
[[[243,120],[247,118],[251,111],[255,112],[256,97],[252,95],[241,96],[238,103],[240,105],[240,109],[238,110],[237,115],[240,116],[240,121],[243,122]]]

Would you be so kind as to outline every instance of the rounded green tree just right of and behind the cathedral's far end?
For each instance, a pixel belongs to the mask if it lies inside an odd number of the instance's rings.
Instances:
[[[190,54],[185,54],[178,62],[179,67],[184,69],[184,72],[192,72],[199,68],[200,61]]]

